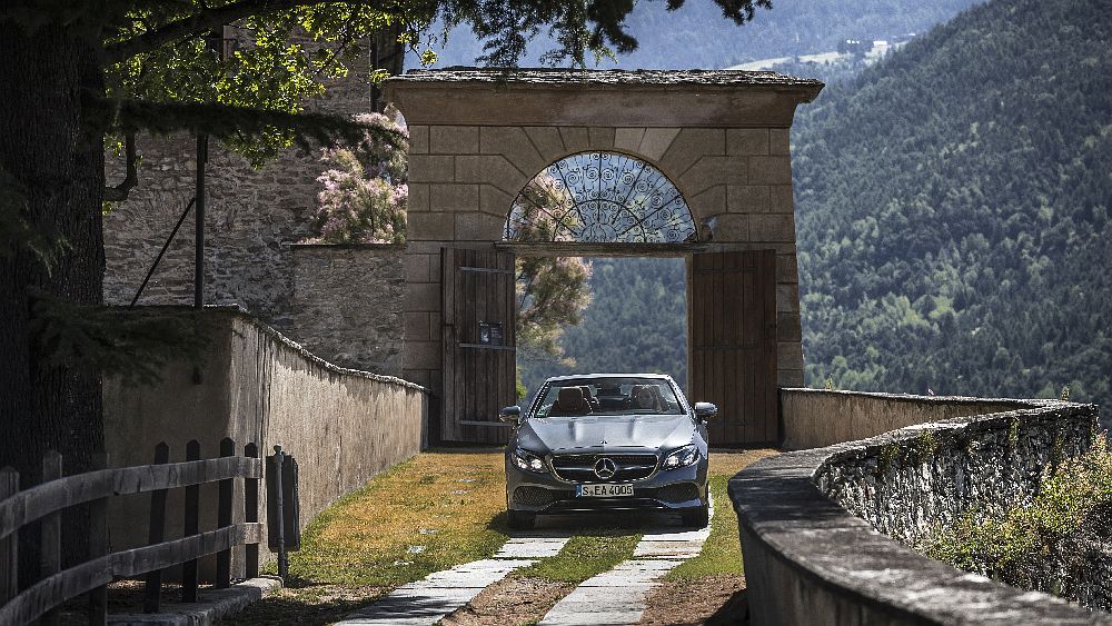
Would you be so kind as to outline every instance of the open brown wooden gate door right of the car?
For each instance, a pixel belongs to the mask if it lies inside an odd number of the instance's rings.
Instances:
[[[776,252],[692,255],[691,400],[718,405],[712,446],[776,444]]]

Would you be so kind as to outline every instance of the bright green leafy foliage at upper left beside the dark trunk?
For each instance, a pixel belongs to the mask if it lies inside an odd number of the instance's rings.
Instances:
[[[218,135],[225,143],[256,165],[275,156],[324,120],[306,116],[300,123],[276,123],[304,115],[306,102],[320,97],[329,80],[348,76],[366,56],[364,46],[383,30],[400,27],[415,33],[429,23],[434,6],[423,2],[378,9],[359,2],[328,2],[298,7],[299,2],[240,2],[240,11],[214,26],[236,23],[225,30],[230,40],[214,39],[209,30],[189,29],[180,37],[158,39],[190,21],[228,11],[232,2],[115,2],[115,28],[108,30],[106,95],[109,99],[141,103],[167,113],[132,123],[165,131],[180,121],[180,106],[222,106],[251,109],[260,121],[201,116],[191,130]],[[153,39],[151,39],[153,38]],[[416,41],[413,36],[407,37]],[[361,80],[384,77],[368,73]],[[171,106],[178,105],[173,108]],[[126,111],[127,107],[125,107]],[[128,122],[123,117],[122,121]],[[225,132],[228,126],[238,131]],[[254,130],[254,131],[249,131]]]

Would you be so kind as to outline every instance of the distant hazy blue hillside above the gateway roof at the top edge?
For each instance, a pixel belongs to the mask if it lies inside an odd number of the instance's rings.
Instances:
[[[981,0],[776,0],[772,10],[758,9],[756,19],[743,27],[723,19],[709,0],[687,0],[668,12],[663,1],[639,2],[628,20],[639,48],[631,54],[604,60],[603,68],[689,69],[725,68],[771,57],[791,57],[834,50],[843,39],[890,39],[923,32]],[[553,49],[539,37],[520,60],[540,64],[540,56]],[[471,66],[483,54],[483,44],[466,29],[451,31],[446,46],[433,48],[438,67]],[[407,67],[416,67],[416,58]]]

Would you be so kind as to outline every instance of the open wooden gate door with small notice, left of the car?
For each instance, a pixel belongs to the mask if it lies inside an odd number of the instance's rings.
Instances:
[[[441,250],[444,397],[440,438],[505,444],[498,409],[515,404],[517,352],[514,255]]]

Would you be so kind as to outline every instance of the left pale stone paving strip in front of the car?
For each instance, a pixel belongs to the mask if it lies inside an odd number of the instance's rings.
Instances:
[[[556,556],[569,535],[535,533],[503,544],[494,557],[457,565],[430,574],[424,580],[403,585],[381,600],[354,613],[339,624],[349,626],[429,626],[466,605],[484,588],[507,574],[533,565],[538,558]]]

